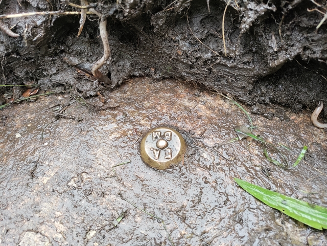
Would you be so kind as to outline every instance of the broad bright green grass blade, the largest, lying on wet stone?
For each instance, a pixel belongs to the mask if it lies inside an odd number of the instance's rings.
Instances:
[[[234,180],[245,191],[249,192],[269,207],[278,209],[288,216],[315,229],[327,229],[327,208],[309,204],[302,200],[264,189],[260,186],[240,180],[239,178],[234,178]]]

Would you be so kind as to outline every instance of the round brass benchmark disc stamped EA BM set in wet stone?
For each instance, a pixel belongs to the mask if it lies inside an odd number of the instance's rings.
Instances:
[[[142,160],[150,167],[164,170],[182,160],[186,151],[183,137],[173,128],[159,126],[148,131],[141,141]]]

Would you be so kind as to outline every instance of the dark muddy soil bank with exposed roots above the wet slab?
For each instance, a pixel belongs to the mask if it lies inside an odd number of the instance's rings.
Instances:
[[[80,1],[72,1],[80,4]],[[111,55],[102,73],[111,87],[135,76],[181,78],[228,93],[248,104],[301,110],[327,104],[326,2],[309,0],[89,1],[107,16]],[[318,9],[318,11],[311,11]],[[52,0],[8,1],[0,14],[76,11]],[[89,90],[72,64],[90,68],[103,55],[98,17],[89,15],[77,38],[79,16],[38,15],[3,19],[20,35],[0,32],[2,84],[35,81],[57,92]],[[2,89],[4,90],[4,89]],[[327,110],[321,116],[326,119]]]

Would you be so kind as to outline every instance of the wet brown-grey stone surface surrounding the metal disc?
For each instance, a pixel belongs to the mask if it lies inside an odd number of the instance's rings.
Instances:
[[[327,207],[327,136],[312,125],[309,111],[287,111],[284,121],[250,114],[256,135],[291,149],[283,150],[290,164],[308,146],[305,160],[282,169],[249,139],[213,148],[235,138],[236,126],[248,125],[240,108],[216,93],[137,78],[103,95],[119,107],[96,111],[81,100],[66,108],[65,115],[82,121],[55,120],[45,111],[72,102],[69,95],[0,111],[2,245],[172,245],[167,232],[175,245],[327,242],[326,231],[269,208],[233,181]],[[184,163],[163,171],[139,155],[143,134],[160,125],[177,129],[188,145]],[[127,161],[111,177],[112,167]],[[162,218],[167,232],[126,200]]]

